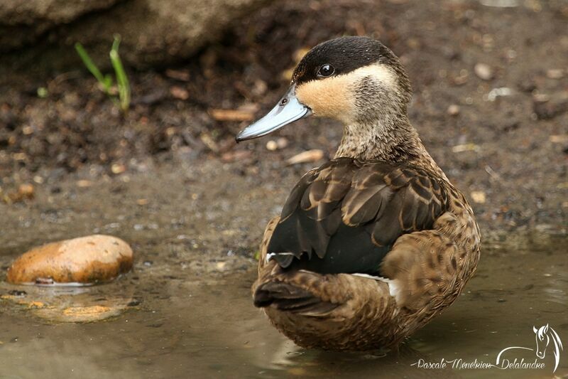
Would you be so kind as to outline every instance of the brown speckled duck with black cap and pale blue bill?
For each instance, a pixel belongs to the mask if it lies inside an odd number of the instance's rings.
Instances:
[[[334,158],[302,176],[266,226],[252,287],[254,306],[302,348],[394,348],[476,271],[474,212],[410,123],[411,98],[389,48],[343,36],[306,53],[275,107],[236,136],[309,116],[344,125]]]

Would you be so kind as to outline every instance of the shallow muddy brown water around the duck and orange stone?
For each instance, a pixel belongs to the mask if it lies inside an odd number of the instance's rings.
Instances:
[[[26,291],[23,299],[49,304],[122,304],[119,316],[88,324],[61,323],[0,301],[0,377],[35,378],[283,378],[309,377],[552,377],[552,342],[544,359],[512,350],[545,368],[473,370],[417,368],[461,358],[495,363],[508,346],[535,348],[532,326],[549,324],[568,344],[567,240],[547,247],[485,247],[476,277],[442,316],[415,333],[400,351],[331,353],[297,348],[251,304],[255,271],[245,257],[212,262],[215,269],[186,269],[168,262],[137,262],[116,282],[81,289],[2,284],[0,294]],[[178,245],[145,241],[144,255],[179,255]],[[0,254],[5,266],[11,252]],[[12,292],[14,293],[14,292]],[[55,311],[57,313],[57,311]],[[568,374],[561,351],[556,375]],[[507,357],[508,356],[508,357]]]

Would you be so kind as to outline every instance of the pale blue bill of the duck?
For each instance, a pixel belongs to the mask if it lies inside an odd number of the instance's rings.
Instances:
[[[290,86],[288,92],[266,116],[249,125],[236,136],[236,142],[266,136],[268,133],[312,114],[309,107],[297,100],[295,89],[295,85]]]

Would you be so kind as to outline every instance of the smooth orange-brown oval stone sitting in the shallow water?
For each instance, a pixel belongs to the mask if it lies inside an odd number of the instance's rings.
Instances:
[[[89,235],[33,248],[13,262],[6,280],[14,284],[105,282],[128,272],[132,258],[132,249],[123,240]]]

